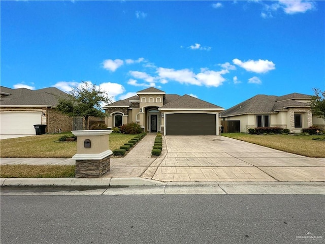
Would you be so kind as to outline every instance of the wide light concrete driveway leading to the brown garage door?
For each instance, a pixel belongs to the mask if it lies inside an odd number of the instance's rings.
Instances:
[[[223,136],[165,136],[165,154],[142,174],[161,181],[325,181],[325,159]]]

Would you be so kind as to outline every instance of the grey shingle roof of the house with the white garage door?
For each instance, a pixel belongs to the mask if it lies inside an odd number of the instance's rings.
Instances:
[[[11,89],[0,86],[2,93],[10,95],[1,99],[0,106],[52,106],[55,107],[60,98],[67,97],[68,94],[62,92],[58,88],[48,87],[38,90],[30,90],[26,88]]]

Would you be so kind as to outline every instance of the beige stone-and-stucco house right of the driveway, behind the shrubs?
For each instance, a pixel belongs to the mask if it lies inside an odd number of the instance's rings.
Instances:
[[[310,95],[299,93],[281,97],[256,95],[221,112],[221,124],[227,126],[237,121],[235,129],[246,133],[255,127],[281,127],[290,133],[299,133],[312,125],[324,128],[324,120],[312,115],[310,99]]]

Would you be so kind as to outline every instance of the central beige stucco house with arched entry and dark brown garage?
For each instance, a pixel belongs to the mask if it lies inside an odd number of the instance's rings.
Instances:
[[[166,94],[154,87],[104,109],[109,128],[133,121],[145,132],[160,131],[164,135],[219,135],[219,113],[224,110],[198,98]]]

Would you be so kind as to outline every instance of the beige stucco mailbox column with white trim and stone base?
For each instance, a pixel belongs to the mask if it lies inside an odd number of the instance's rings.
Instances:
[[[77,136],[76,178],[97,178],[110,170],[108,138],[112,130],[72,131]]]

